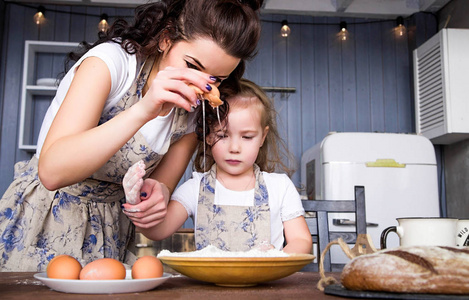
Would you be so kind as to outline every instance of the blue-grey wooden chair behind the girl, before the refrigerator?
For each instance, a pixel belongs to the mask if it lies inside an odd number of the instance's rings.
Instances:
[[[308,218],[308,226],[313,237],[313,244],[317,244],[316,256],[318,263],[319,257],[330,241],[341,237],[347,244],[354,244],[359,234],[366,234],[366,211],[365,211],[365,188],[355,186],[354,200],[302,200],[306,212],[315,212],[315,218]],[[329,231],[328,214],[329,213],[355,213],[355,231]],[[313,222],[311,222],[313,221]],[[314,222],[316,221],[316,222]],[[303,271],[318,271],[318,263],[311,263]],[[330,252],[324,257],[325,272],[340,272],[343,264],[331,264]]]

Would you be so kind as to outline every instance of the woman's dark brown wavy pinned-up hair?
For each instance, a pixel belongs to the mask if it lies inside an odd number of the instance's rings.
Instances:
[[[89,49],[104,42],[122,45],[129,54],[158,55],[159,44],[195,38],[211,38],[229,55],[241,59],[225,81],[236,83],[245,70],[245,60],[256,54],[261,24],[258,11],[264,0],[161,0],[138,6],[133,24],[117,19],[94,44],[82,42],[69,61],[77,61]],[[67,64],[68,65],[68,64]]]

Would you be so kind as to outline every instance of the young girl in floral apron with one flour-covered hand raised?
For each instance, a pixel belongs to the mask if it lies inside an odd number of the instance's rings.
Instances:
[[[221,124],[216,112],[206,109],[206,138],[199,143],[195,161],[196,169],[204,173],[194,172],[175,191],[161,223],[145,227],[134,219],[138,212],[124,213],[152,240],[170,236],[190,216],[197,249],[214,245],[246,251],[265,243],[282,249],[286,242],[285,252],[310,253],[311,234],[300,196],[287,175],[270,173],[284,167],[272,102],[248,80],[241,80],[239,93],[228,87],[221,92],[225,96]],[[203,128],[199,120],[199,139]],[[138,169],[131,168],[124,180],[134,185],[134,191],[141,186],[143,172]]]

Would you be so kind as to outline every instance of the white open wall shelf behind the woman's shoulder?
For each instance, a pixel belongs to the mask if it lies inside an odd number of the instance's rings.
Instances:
[[[57,91],[58,75],[65,70],[66,55],[78,43],[25,41],[24,47],[18,147],[34,152],[42,119]]]

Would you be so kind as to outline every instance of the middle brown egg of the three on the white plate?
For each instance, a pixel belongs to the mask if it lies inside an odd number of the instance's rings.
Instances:
[[[80,272],[83,280],[125,279],[125,267],[114,258],[100,258],[88,263]]]

